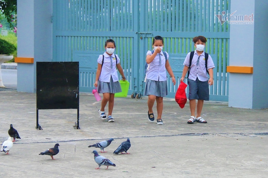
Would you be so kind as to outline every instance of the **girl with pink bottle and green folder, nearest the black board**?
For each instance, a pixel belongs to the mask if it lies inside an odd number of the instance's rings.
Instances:
[[[101,120],[114,122],[114,117],[112,117],[112,111],[114,108],[114,94],[122,92],[120,83],[118,81],[116,67],[121,74],[123,81],[126,80],[126,77],[120,65],[118,55],[114,54],[114,50],[116,48],[114,40],[107,40],[104,48],[106,49],[106,52],[104,52],[103,55],[100,55],[97,60],[98,68],[94,86],[98,87],[98,93],[103,94],[101,109],[98,110]],[[108,101],[108,117],[106,117],[104,108]]]

